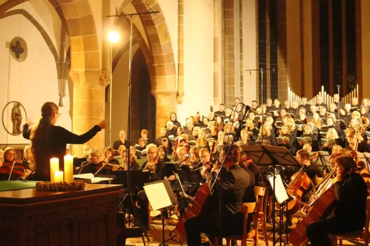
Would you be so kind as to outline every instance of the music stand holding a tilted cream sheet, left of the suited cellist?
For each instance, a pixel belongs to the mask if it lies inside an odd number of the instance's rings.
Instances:
[[[153,210],[161,209],[162,214],[162,243],[159,246],[166,246],[165,242],[165,218],[163,217],[163,209],[173,205],[176,202],[170,182],[165,180],[147,183],[144,186],[144,191],[150,206]]]

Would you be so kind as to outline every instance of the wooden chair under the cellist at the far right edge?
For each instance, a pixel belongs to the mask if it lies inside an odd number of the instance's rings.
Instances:
[[[345,233],[341,235],[333,235],[333,246],[342,246],[343,240],[363,241],[365,245],[369,244],[369,224],[370,224],[370,197],[366,202],[366,222],[365,227],[361,231]],[[339,242],[339,243],[338,243]]]

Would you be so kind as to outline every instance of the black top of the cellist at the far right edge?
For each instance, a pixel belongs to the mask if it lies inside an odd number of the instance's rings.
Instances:
[[[368,197],[368,187],[363,177],[357,173],[346,174],[342,181],[333,186],[338,199],[334,211],[335,218],[345,223],[356,224],[359,229],[362,229],[366,221]]]

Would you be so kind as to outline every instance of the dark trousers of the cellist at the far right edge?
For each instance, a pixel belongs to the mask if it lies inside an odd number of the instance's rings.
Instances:
[[[362,230],[357,221],[328,219],[310,224],[307,229],[307,237],[312,246],[331,246],[330,234],[342,234]]]

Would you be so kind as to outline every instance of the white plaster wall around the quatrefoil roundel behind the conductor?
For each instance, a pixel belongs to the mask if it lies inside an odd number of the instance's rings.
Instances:
[[[29,13],[35,13],[31,5],[25,4],[24,8]],[[35,18],[37,15],[35,14]],[[40,24],[45,26],[40,21]],[[57,68],[54,57],[46,45],[39,31],[26,18],[21,15],[10,16],[0,20],[0,109],[8,101],[20,101],[26,108],[28,121],[37,122],[41,116],[40,109],[44,102],[58,103]],[[21,36],[28,45],[28,57],[24,62],[17,62],[9,53],[7,43],[14,37]],[[51,37],[54,39],[54,36]],[[53,41],[55,42],[55,40]],[[69,116],[69,93],[63,100],[64,107],[60,108],[61,114],[57,124],[71,130]],[[11,131],[11,107],[5,110],[3,119]],[[26,117],[23,117],[25,123]],[[28,143],[22,135],[11,136],[6,134],[0,126],[1,144]]]

